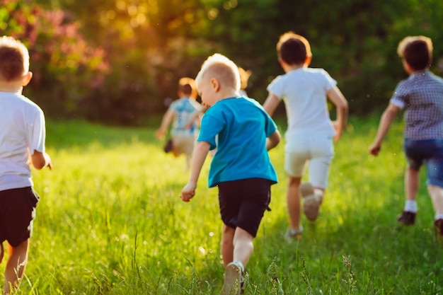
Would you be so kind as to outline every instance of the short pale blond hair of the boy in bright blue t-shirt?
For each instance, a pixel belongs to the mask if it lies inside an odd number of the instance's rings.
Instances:
[[[222,54],[212,54],[205,60],[202,64],[202,69],[200,69],[197,78],[195,78],[197,84],[207,75],[217,79],[222,87],[227,86],[234,88],[236,91],[240,90],[238,67],[231,59]]]

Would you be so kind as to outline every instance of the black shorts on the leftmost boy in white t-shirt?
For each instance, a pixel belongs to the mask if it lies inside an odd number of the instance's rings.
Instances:
[[[38,200],[32,187],[0,191],[0,243],[17,247],[32,236]]]

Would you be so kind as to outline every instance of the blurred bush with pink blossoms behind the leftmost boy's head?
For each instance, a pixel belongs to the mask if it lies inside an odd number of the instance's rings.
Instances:
[[[29,0],[6,1],[0,8],[3,34],[27,45],[33,80],[26,94],[52,116],[79,112],[87,94],[108,70],[100,47],[79,33],[79,21],[60,10],[47,11]]]

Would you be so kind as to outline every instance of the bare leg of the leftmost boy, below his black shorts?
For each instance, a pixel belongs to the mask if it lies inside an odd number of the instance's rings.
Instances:
[[[8,244],[8,262],[6,262],[4,294],[10,294],[18,288],[26,263],[28,262],[29,239],[17,247]]]

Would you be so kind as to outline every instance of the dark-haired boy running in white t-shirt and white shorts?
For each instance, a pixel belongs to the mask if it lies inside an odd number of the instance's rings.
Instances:
[[[269,96],[263,104],[272,115],[281,100],[287,110],[284,168],[289,175],[287,207],[290,224],[287,238],[299,238],[300,195],[304,214],[314,221],[328,185],[330,163],[334,156],[333,137],[340,139],[347,121],[347,100],[336,81],[323,69],[311,69],[309,42],[292,32],[284,33],[277,43],[280,65],[286,74],[277,76],[267,86]],[[327,98],[335,105],[336,121],[329,117]],[[301,178],[309,163],[309,182]]]

